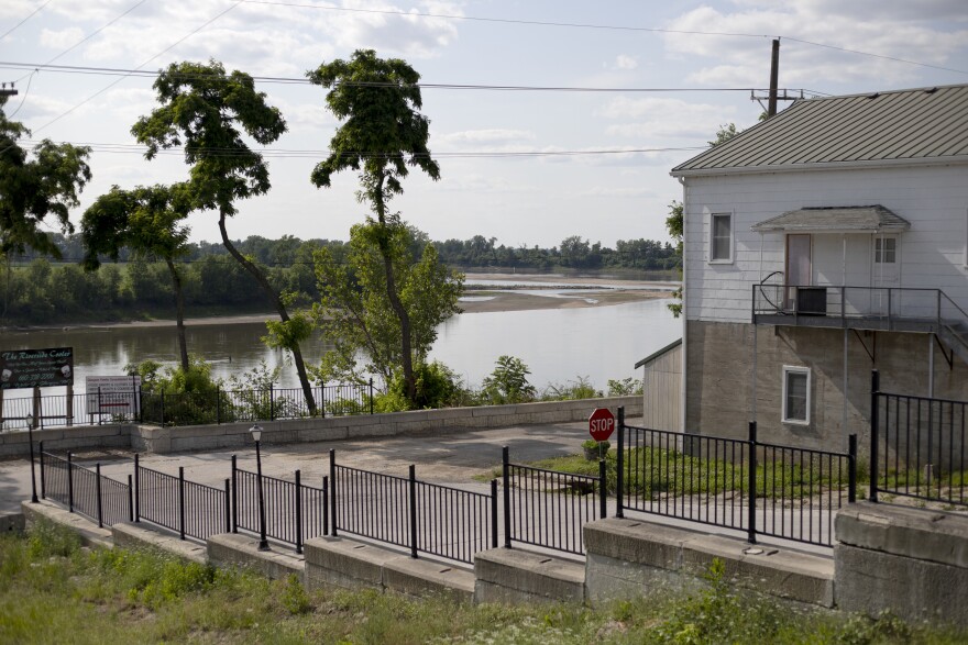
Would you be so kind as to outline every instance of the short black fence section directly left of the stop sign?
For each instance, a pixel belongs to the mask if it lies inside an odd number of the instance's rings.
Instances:
[[[512,464],[502,452],[504,545],[513,542],[584,554],[582,526],[606,516],[606,463],[598,477]]]

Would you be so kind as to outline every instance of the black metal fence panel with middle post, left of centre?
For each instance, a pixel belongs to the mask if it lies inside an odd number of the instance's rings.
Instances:
[[[410,549],[473,563],[497,546],[497,482],[491,494],[408,477],[340,466],[330,451],[332,535],[339,531]]]

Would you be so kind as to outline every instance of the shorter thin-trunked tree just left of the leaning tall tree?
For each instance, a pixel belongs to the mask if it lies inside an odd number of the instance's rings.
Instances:
[[[185,294],[175,260],[188,253],[190,229],[183,222],[190,210],[185,185],[139,186],[121,190],[112,186],[84,212],[80,236],[82,266],[100,267],[100,256],[118,262],[122,248],[135,258],[161,258],[168,267],[175,294],[178,349],[182,370],[187,374],[188,341],[185,334]]]

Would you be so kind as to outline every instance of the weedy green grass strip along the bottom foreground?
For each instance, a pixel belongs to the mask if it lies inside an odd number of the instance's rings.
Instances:
[[[155,552],[89,551],[66,530],[0,537],[2,643],[959,643],[968,634],[804,609],[737,592],[721,563],[705,590],[657,589],[591,610],[307,593],[295,577],[187,564]]]

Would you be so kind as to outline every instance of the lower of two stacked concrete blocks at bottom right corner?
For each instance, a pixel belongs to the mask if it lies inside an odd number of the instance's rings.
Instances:
[[[909,620],[968,627],[968,569],[860,548],[834,547],[835,600],[845,611],[875,616],[890,610]]]

